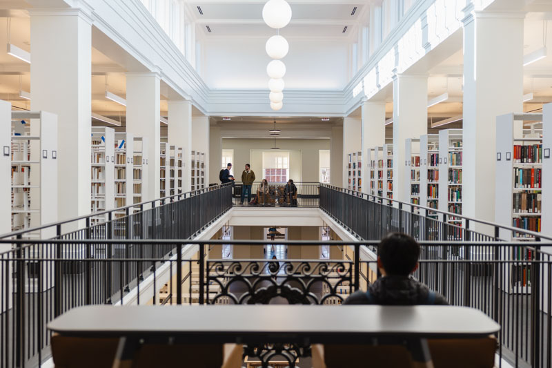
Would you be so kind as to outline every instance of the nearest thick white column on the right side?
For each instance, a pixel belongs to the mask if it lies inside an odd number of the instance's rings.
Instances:
[[[493,221],[496,117],[523,110],[523,16],[464,12],[462,215]]]

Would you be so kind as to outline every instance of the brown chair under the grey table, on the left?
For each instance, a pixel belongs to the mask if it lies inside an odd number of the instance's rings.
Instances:
[[[52,357],[56,368],[111,368],[119,339],[52,336]],[[146,344],[137,351],[132,368],[242,367],[242,345],[226,344]]]

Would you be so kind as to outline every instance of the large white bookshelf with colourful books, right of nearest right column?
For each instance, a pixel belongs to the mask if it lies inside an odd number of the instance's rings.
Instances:
[[[542,207],[543,139],[539,133],[524,134],[524,122],[542,122],[542,114],[506,114],[496,119],[495,222],[540,232]],[[508,241],[535,240],[511,231],[500,231]],[[526,246],[504,247],[501,258],[513,260],[505,266],[503,284],[509,293],[531,293],[533,259]]]

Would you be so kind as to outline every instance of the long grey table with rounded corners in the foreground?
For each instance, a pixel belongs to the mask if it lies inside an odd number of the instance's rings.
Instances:
[[[128,339],[155,336],[252,344],[359,344],[401,338],[413,342],[408,348],[420,366],[432,367],[426,339],[482,338],[500,326],[477,309],[451,306],[99,305],[71,309],[52,320],[48,329],[64,336],[119,337],[116,359],[121,362],[133,355]]]

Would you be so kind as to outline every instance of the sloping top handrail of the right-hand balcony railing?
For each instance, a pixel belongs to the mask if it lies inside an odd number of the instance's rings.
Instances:
[[[552,241],[552,235],[543,235],[542,233],[537,233],[537,232],[531,231],[531,230],[525,230],[525,229],[520,229],[520,228],[513,227],[513,226],[497,224],[496,222],[491,222],[491,221],[488,221],[488,220],[477,220],[473,217],[468,217],[466,215],[460,215],[458,213],[451,213],[451,212],[447,212],[447,211],[441,211],[441,210],[438,210],[438,209],[432,209],[431,207],[420,206],[420,204],[402,202],[402,201],[399,201],[399,200],[393,200],[392,198],[380,197],[379,195],[374,195],[374,194],[369,194],[369,193],[362,193],[362,192],[359,192],[359,191],[353,191],[352,189],[339,188],[338,186],[333,186],[333,185],[330,185],[330,184],[320,183],[320,186],[324,186],[324,187],[329,188],[333,191],[338,191],[338,192],[342,192],[342,193],[349,192],[349,193],[346,193],[346,194],[353,195],[355,197],[361,197],[363,199],[364,199],[364,196],[367,196],[366,200],[370,200],[370,197],[377,198],[377,199],[381,200],[380,204],[384,204],[383,201],[387,201],[387,204],[386,204],[387,206],[390,206],[390,204],[389,204],[390,202],[394,202],[396,204],[400,204],[401,206],[411,206],[415,209],[423,209],[425,211],[433,211],[433,212],[441,213],[442,215],[447,215],[447,216],[451,216],[451,217],[459,217],[462,220],[466,220],[466,221],[469,221],[469,222],[475,222],[477,224],[484,224],[484,225],[492,226],[492,227],[498,228],[498,229],[504,229],[504,230],[507,230],[507,231],[514,231],[516,233],[524,233],[524,234],[533,236],[535,238],[535,240],[537,240],[537,241],[539,241],[540,239],[546,239],[546,240],[551,240]],[[351,194],[351,193],[354,193],[354,194]],[[373,201],[373,202],[377,202],[377,201]]]

